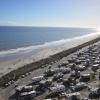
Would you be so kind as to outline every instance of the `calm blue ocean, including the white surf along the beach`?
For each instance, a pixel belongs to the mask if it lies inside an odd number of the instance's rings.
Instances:
[[[64,40],[95,33],[92,28],[0,26],[0,60],[37,52],[43,46],[53,46]],[[24,53],[24,56],[27,56]]]

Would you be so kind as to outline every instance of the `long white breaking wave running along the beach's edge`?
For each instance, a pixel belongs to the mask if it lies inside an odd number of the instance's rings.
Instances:
[[[79,36],[79,37],[69,38],[69,39],[62,39],[62,40],[58,40],[58,41],[46,42],[44,44],[36,45],[36,46],[28,46],[28,47],[22,47],[22,48],[17,48],[17,49],[10,49],[10,50],[6,50],[6,51],[0,51],[0,56],[17,54],[19,52],[22,52],[22,53],[23,52],[24,53],[32,52],[32,51],[37,50],[37,49],[39,50],[42,48],[57,47],[57,46],[60,46],[62,44],[65,44],[65,43],[73,42],[73,41],[77,41],[77,40],[81,40],[81,39],[85,39],[88,41],[89,39],[94,39],[97,37],[100,37],[99,32],[91,33],[91,34],[87,34],[87,35],[83,35],[83,36]]]

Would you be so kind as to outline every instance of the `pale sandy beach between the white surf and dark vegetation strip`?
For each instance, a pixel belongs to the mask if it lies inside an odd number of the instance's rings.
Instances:
[[[71,41],[70,39],[67,41],[63,41],[60,44],[57,44],[55,46],[50,46],[50,47],[44,47],[42,48],[41,51],[37,52],[37,53],[33,53],[33,55],[31,55],[30,57],[26,57],[26,58],[18,58],[18,59],[14,59],[14,60],[8,60],[8,61],[2,61],[0,62],[0,77],[2,77],[3,75],[16,70],[24,65],[30,64],[30,63],[34,63],[36,61],[39,61],[41,59],[45,59],[48,58],[54,54],[57,54],[59,52],[62,52],[64,50],[68,50],[70,48],[76,47],[78,45],[81,45],[83,43],[86,43],[88,41],[91,41],[93,39],[99,38],[100,37],[100,33],[91,33],[88,35],[84,35],[81,37],[76,37],[73,38]]]

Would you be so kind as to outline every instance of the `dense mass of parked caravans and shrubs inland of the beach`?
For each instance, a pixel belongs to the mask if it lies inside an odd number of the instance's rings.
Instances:
[[[100,46],[92,45],[74,54],[70,59],[32,78],[29,86],[16,87],[16,94],[22,100],[46,94],[44,99],[64,98],[65,100],[100,99],[100,87],[89,83],[100,80]],[[47,66],[46,66],[47,67]],[[44,68],[44,67],[42,67]],[[86,92],[86,95],[81,93]]]

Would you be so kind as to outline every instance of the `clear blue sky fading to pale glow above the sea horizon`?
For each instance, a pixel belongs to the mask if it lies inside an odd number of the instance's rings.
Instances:
[[[0,26],[100,27],[100,0],[0,0]]]

